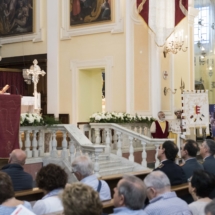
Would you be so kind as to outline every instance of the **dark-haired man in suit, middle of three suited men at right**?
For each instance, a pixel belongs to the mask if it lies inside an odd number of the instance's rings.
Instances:
[[[181,157],[185,160],[182,169],[187,179],[193,175],[195,170],[203,169],[203,166],[196,160],[198,150],[199,147],[194,140],[186,140],[181,148]]]

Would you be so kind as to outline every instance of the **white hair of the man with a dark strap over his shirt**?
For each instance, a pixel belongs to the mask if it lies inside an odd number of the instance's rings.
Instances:
[[[79,172],[83,177],[93,174],[93,162],[87,156],[79,156],[72,162],[72,169],[74,172]]]

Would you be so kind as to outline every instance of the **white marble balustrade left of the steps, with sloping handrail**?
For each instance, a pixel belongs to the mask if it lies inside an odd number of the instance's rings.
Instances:
[[[57,150],[57,133],[62,135],[60,155]],[[105,146],[92,144],[75,125],[20,127],[19,135],[20,148],[25,150],[27,158],[50,156],[71,162],[75,156],[87,153],[94,161],[95,173],[99,174],[99,154]]]

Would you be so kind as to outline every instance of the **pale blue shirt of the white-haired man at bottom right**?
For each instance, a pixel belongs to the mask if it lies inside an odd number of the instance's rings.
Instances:
[[[178,198],[175,192],[167,192],[154,199],[145,208],[148,215],[192,215],[185,201]]]

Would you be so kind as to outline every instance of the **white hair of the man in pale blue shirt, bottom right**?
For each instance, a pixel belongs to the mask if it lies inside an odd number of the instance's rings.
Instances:
[[[153,187],[156,190],[170,188],[169,178],[162,171],[154,171],[148,174],[144,179],[146,187]]]

